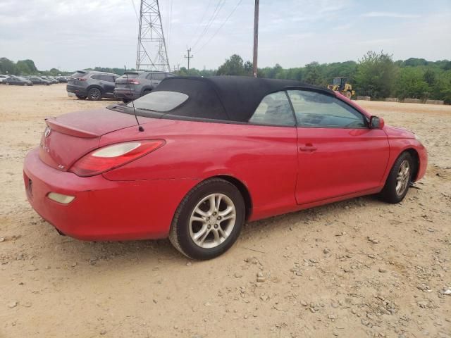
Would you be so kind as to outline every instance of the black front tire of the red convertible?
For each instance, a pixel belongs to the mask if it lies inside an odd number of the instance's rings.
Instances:
[[[400,189],[397,189],[397,185],[400,183],[398,181],[398,175],[400,175],[400,169],[402,165],[405,165],[407,163],[409,172],[407,176],[405,176],[405,180],[407,182],[404,184],[400,184]],[[412,173],[414,172],[414,161],[412,161],[412,156],[404,152],[402,153],[393,163],[393,167],[390,170],[390,173],[388,174],[387,180],[385,181],[385,185],[379,194],[381,199],[388,203],[400,203],[406,196],[407,192],[409,191],[409,185],[412,181]],[[400,179],[402,180],[402,179]]]

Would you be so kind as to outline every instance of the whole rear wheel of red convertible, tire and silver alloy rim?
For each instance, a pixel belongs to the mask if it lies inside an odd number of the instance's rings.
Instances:
[[[194,259],[211,259],[227,251],[245,223],[245,201],[232,183],[212,178],[197,184],[175,211],[169,239]]]

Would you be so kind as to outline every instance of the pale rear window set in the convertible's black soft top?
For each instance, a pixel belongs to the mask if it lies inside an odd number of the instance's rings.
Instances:
[[[139,99],[133,101],[135,108],[144,109],[145,111],[157,111],[160,113],[171,111],[180,106],[188,99],[187,94],[179,92],[150,92],[147,95],[141,96]],[[132,108],[132,103],[127,104]]]

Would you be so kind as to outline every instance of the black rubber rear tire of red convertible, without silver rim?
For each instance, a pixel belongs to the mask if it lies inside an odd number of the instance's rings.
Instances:
[[[197,207],[199,202],[211,194],[223,194],[233,202],[233,205],[235,206],[235,223],[230,230],[230,234],[228,234],[228,237],[226,237],[221,244],[211,248],[203,248],[196,244],[191,237],[190,218],[194,212],[194,208]],[[230,249],[230,246],[235,243],[240,235],[242,225],[245,223],[245,215],[245,201],[237,187],[221,178],[211,178],[197,184],[197,186],[192,188],[180,202],[173,217],[171,230],[169,232],[169,240],[175,249],[188,258],[198,260],[215,258],[226,252]],[[216,225],[214,225],[214,227],[216,227]],[[221,225],[219,227],[221,229]],[[213,231],[214,230],[211,227],[211,230],[207,232],[208,235],[206,238],[209,237],[209,234],[214,236]]]

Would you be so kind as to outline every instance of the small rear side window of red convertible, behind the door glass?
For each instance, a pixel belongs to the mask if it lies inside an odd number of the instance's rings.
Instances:
[[[261,100],[249,123],[262,125],[295,125],[290,101],[285,92],[266,95]]]

